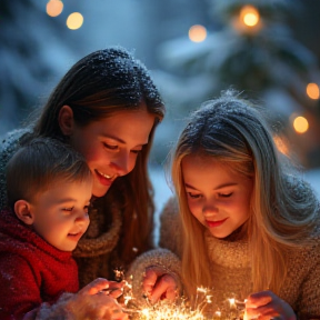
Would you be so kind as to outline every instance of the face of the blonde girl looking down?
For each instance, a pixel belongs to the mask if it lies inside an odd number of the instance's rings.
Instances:
[[[210,157],[182,160],[182,176],[191,213],[216,238],[226,238],[249,218],[251,179]]]

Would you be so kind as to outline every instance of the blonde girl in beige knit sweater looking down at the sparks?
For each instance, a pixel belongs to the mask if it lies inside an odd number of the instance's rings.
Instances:
[[[236,298],[248,319],[320,317],[319,202],[287,160],[258,109],[230,91],[197,110],[178,140],[179,209],[173,200],[164,208],[160,246],[181,258],[189,297],[212,289],[211,312]],[[157,266],[154,256],[137,263]],[[176,286],[166,270],[147,269],[151,301]]]

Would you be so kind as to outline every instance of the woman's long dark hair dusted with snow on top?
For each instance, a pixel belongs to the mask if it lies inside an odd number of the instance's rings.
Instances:
[[[129,263],[137,254],[132,248],[141,253],[152,244],[153,189],[147,163],[154,129],[164,116],[163,102],[147,68],[126,49],[111,47],[86,56],[66,73],[34,123],[36,137],[66,140],[58,121],[66,104],[72,109],[76,123],[83,127],[114,112],[146,108],[144,104],[156,116],[149,142],[138,156],[134,169],[118,178],[103,197],[107,202],[112,199],[121,203],[123,209],[119,254]],[[110,206],[106,207],[108,210]]]

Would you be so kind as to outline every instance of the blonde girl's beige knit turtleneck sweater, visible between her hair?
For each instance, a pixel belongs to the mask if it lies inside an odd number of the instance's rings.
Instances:
[[[154,258],[142,254],[139,260],[143,268],[150,266],[166,266],[164,270],[173,270],[179,276],[179,262],[172,263],[172,254],[181,258],[182,246],[180,241],[181,227],[177,201],[170,199],[160,216],[160,247],[159,253],[152,252]],[[320,237],[319,228],[312,236],[311,248],[297,249],[289,256],[289,270],[279,297],[287,301],[298,317],[303,319],[320,318]],[[206,247],[208,250],[210,272],[213,279],[213,288],[209,288],[211,303],[204,309],[213,317],[216,311],[230,312],[230,298],[238,301],[244,299],[252,292],[251,267],[249,258],[248,241],[231,237],[229,240],[217,239],[209,231],[204,233]],[[173,252],[173,253],[172,253]],[[156,257],[161,254],[161,263],[157,263]],[[167,257],[166,257],[167,254]],[[143,257],[144,256],[144,257]],[[136,267],[137,268],[137,267]],[[139,273],[141,273],[141,270]],[[134,286],[141,290],[142,277],[138,272],[132,272],[136,278]],[[267,290],[268,288],[266,288]],[[139,291],[139,289],[134,289]],[[142,296],[142,292],[137,292]],[[198,301],[203,301],[204,294],[199,292]],[[242,306],[243,308],[243,306]],[[232,309],[231,309],[232,311]],[[226,313],[224,313],[226,314]],[[230,314],[230,313],[229,313]]]

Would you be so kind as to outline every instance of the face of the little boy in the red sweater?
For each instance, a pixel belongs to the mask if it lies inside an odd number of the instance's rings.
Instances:
[[[53,183],[30,203],[34,230],[57,249],[74,250],[89,226],[91,192],[91,179]]]

